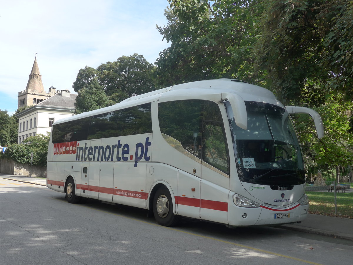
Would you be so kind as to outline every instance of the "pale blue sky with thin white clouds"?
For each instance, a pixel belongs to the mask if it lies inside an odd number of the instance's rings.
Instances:
[[[156,29],[167,24],[167,0],[14,0],[0,9],[0,110],[17,109],[37,52],[44,89],[73,92],[79,69],[122,55],[154,63],[169,47]]]

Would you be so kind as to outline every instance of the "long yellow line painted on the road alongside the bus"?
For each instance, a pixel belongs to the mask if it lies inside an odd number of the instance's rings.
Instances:
[[[58,199],[58,198],[53,198],[53,199]],[[60,199],[61,199],[61,198],[60,198]],[[86,208],[90,208],[90,209],[92,210],[92,207],[89,206],[89,205],[80,204],[80,205],[78,205],[78,206],[83,206],[83,207],[86,207]],[[135,220],[135,221],[138,221],[138,222],[140,222],[140,223],[145,223],[145,224],[150,224],[150,225],[154,225],[154,226],[159,226],[160,228],[166,228],[166,229],[169,229],[169,230],[173,230],[173,231],[177,231],[177,232],[182,232],[182,233],[184,233],[184,234],[188,234],[188,235],[192,235],[192,236],[198,236],[198,237],[202,237],[202,238],[207,238],[207,239],[209,239],[209,240],[215,240],[215,241],[222,242],[222,243],[226,243],[226,244],[229,244],[229,245],[238,246],[238,247],[241,247],[241,248],[247,248],[247,249],[251,249],[251,250],[253,250],[253,251],[258,251],[258,252],[262,252],[262,253],[266,253],[266,254],[275,255],[275,256],[277,256],[277,257],[282,257],[282,258],[287,258],[287,259],[291,259],[291,260],[301,261],[301,262],[307,263],[307,264],[322,265],[321,263],[316,263],[316,262],[312,262],[312,261],[304,260],[304,259],[298,259],[298,258],[294,258],[294,257],[291,257],[291,256],[282,255],[282,254],[279,254],[279,253],[275,253],[275,252],[271,252],[271,251],[267,251],[267,250],[263,250],[263,249],[259,249],[259,248],[249,247],[249,246],[241,245],[241,244],[238,244],[238,243],[234,243],[234,242],[230,242],[230,241],[226,241],[226,240],[222,240],[222,239],[217,239],[217,238],[210,237],[210,236],[203,236],[203,235],[195,234],[195,233],[192,233],[192,232],[187,232],[187,231],[179,230],[179,229],[176,229],[176,228],[171,228],[171,227],[167,227],[167,226],[161,226],[161,225],[159,225],[159,224],[154,224],[154,223],[151,223],[151,222],[146,222],[146,221],[144,221],[144,220],[139,220],[139,219],[136,219],[136,218],[123,216],[123,215],[121,215],[121,214],[119,214],[119,213],[107,212],[107,211],[105,211],[105,210],[96,209],[96,208],[93,208],[93,210],[99,211],[99,212],[104,212],[104,213],[113,214],[113,215],[115,215],[115,216],[124,217],[124,218],[130,219],[130,220]]]

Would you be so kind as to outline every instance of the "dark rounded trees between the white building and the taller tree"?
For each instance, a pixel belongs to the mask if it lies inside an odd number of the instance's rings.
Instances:
[[[122,56],[94,69],[80,69],[73,89],[78,93],[75,113],[96,110],[155,89],[154,66],[142,55]]]

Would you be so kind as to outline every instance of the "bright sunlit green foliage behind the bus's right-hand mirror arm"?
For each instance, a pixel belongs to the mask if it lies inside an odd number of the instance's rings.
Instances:
[[[302,98],[301,102],[305,102],[305,98]],[[297,114],[295,116],[306,170],[309,176],[311,169],[335,169],[339,173],[336,169],[340,166],[347,167],[353,164],[353,137],[349,131],[353,103],[344,101],[342,94],[331,94],[325,100],[324,105],[314,107],[314,109],[321,114],[323,120],[325,135],[322,139],[316,137],[315,126],[307,115]]]

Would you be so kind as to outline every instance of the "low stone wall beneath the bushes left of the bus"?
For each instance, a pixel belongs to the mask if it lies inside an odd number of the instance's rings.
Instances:
[[[32,165],[31,169],[31,165],[19,164],[11,159],[0,158],[0,173],[45,178],[47,169],[45,166],[35,165]]]

